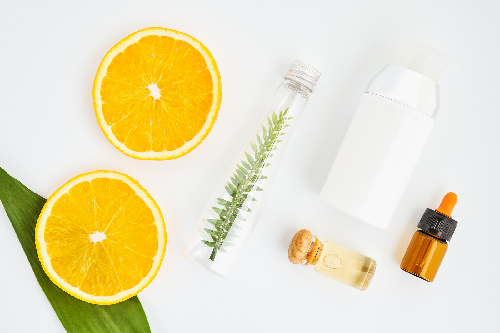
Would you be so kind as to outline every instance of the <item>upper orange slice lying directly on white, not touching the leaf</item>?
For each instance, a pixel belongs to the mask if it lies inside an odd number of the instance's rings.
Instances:
[[[102,59],[93,84],[95,116],[109,142],[143,160],[194,149],[217,118],[221,88],[208,49],[159,27],[134,32]]]

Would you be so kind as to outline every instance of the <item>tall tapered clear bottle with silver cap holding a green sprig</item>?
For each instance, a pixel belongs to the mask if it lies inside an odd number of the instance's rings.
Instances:
[[[293,61],[255,134],[230,168],[185,247],[182,255],[191,263],[221,278],[229,277],[319,75],[314,67]]]

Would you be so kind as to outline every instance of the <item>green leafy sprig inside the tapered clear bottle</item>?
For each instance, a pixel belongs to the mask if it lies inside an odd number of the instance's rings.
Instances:
[[[241,230],[241,227],[236,225],[237,221],[245,221],[239,211],[251,212],[249,207],[244,205],[248,192],[253,190],[255,183],[259,180],[266,179],[268,177],[261,175],[263,168],[268,167],[271,163],[264,163],[268,158],[273,156],[273,150],[278,149],[276,144],[281,142],[278,138],[284,135],[281,130],[285,127],[290,126],[287,121],[293,117],[286,117],[288,108],[284,112],[280,111],[279,115],[276,112],[272,112],[271,116],[267,118],[267,124],[269,125],[267,129],[262,125],[262,137],[257,134],[257,142],[251,143],[250,146],[253,150],[253,157],[245,151],[246,160],[240,160],[241,165],[236,164],[237,168],[235,173],[232,174],[231,181],[227,182],[225,190],[231,196],[232,201],[227,201],[221,198],[217,199],[217,204],[222,208],[213,207],[212,209],[218,214],[218,220],[206,219],[209,223],[215,226],[215,230],[204,229],[208,235],[212,238],[212,241],[201,240],[201,242],[207,246],[213,247],[212,253],[210,255],[210,260],[213,261],[217,254],[217,251],[227,252],[225,249],[221,248],[222,244],[225,246],[234,245],[228,241],[232,240],[232,237],[237,238],[236,235],[227,236],[231,228]],[[255,191],[263,191],[262,188],[256,187]],[[252,201],[257,201],[252,197]]]

